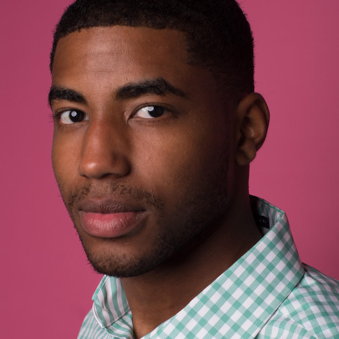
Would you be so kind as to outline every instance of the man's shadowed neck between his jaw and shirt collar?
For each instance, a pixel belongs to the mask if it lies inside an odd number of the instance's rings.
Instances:
[[[187,252],[146,274],[121,279],[135,339],[177,314],[261,239],[248,195],[245,202],[230,207],[232,212],[212,228],[214,232]]]

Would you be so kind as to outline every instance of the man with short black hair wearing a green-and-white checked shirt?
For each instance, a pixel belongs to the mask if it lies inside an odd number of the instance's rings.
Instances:
[[[79,338],[339,338],[338,281],[301,263],[282,210],[248,195],[269,122],[253,59],[234,0],[66,9],[52,162],[105,274]]]

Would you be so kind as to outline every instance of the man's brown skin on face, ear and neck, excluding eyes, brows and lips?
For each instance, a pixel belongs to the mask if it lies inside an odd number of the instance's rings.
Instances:
[[[175,30],[95,27],[62,38],[53,65],[52,86],[86,100],[52,98],[55,177],[89,261],[122,277],[135,338],[175,315],[261,238],[248,170],[266,136],[267,105],[256,93],[225,102],[212,74],[186,57]],[[120,87],[152,79],[181,94],[117,98]],[[152,104],[164,115],[138,115]],[[86,119],[62,124],[69,109]],[[81,203],[102,198],[137,206],[137,226],[115,238],[86,233]]]

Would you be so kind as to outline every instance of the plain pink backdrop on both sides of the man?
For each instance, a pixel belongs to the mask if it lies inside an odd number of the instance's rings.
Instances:
[[[69,3],[1,5],[2,338],[76,338],[101,278],[50,161],[48,53]],[[302,261],[339,279],[339,2],[247,0],[243,8],[256,39],[257,91],[272,115],[250,193],[287,212]]]

